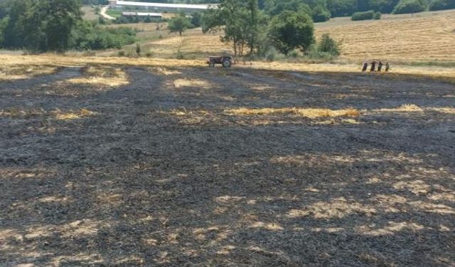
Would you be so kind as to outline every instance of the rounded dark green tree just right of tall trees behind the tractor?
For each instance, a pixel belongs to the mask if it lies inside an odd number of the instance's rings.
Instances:
[[[314,25],[304,12],[284,11],[270,23],[269,40],[287,55],[298,48],[305,51],[314,43]]]

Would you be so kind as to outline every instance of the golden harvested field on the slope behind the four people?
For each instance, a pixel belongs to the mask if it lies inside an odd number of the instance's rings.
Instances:
[[[455,10],[385,15],[380,21],[331,19],[319,34],[342,41],[342,56],[358,60],[455,61]]]

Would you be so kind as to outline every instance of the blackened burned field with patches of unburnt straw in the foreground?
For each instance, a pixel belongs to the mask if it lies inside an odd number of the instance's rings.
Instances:
[[[455,264],[453,84],[90,66],[0,107],[0,266]]]

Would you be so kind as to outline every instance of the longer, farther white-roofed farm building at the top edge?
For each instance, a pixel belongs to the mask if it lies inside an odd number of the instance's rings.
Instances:
[[[164,3],[148,3],[148,2],[134,2],[134,1],[117,1],[109,0],[111,9],[122,9],[124,7],[130,9],[154,9],[166,11],[201,11],[208,9],[213,4],[164,4]]]

